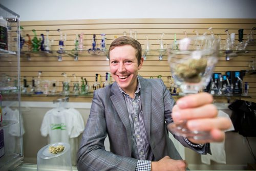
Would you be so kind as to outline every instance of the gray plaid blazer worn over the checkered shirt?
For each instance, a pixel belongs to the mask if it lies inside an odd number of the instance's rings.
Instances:
[[[166,129],[166,124],[172,122],[174,99],[161,79],[138,78],[144,124],[154,161],[164,156],[181,159]],[[107,135],[111,152],[105,151],[104,147]],[[182,137],[175,138],[201,154],[206,154],[209,149],[208,145],[196,149],[189,146]],[[77,155],[78,170],[135,170],[138,159],[132,158],[129,115],[116,82],[94,91],[90,115]]]

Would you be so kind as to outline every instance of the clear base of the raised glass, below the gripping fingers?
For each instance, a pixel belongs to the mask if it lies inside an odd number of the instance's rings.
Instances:
[[[175,135],[186,138],[193,138],[195,140],[210,140],[210,132],[208,131],[191,131],[186,126],[186,121],[181,123],[171,123],[168,125],[168,130]]]

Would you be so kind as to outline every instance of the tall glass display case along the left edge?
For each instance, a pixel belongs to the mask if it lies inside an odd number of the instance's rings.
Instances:
[[[19,15],[0,4],[0,170],[23,161]]]

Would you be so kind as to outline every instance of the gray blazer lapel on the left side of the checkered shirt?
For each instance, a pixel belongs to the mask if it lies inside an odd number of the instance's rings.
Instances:
[[[130,119],[129,119],[129,114],[126,108],[126,103],[124,100],[124,97],[122,93],[120,92],[118,85],[116,82],[113,83],[112,86],[112,93],[113,95],[110,97],[113,105],[115,106],[115,110],[117,111],[127,133],[127,140],[129,141],[129,149],[130,153],[132,155],[132,131],[131,131],[131,124],[130,124]]]

